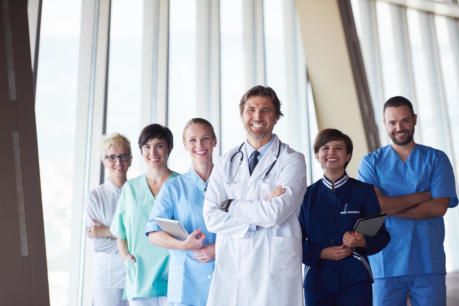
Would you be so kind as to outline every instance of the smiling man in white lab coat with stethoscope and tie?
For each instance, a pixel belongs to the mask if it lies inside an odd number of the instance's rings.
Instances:
[[[247,140],[220,156],[204,201],[217,233],[207,306],[300,306],[304,156],[272,134],[283,116],[273,89],[255,86],[239,106]]]

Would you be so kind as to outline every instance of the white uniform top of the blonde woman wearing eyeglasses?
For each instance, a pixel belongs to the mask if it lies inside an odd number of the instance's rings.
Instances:
[[[121,188],[112,184],[108,179],[106,183],[91,190],[84,198],[84,214],[86,226],[94,225],[91,218],[110,227],[116,206],[118,204]],[[93,255],[93,288],[124,288],[126,267],[118,252],[116,239],[91,238]]]

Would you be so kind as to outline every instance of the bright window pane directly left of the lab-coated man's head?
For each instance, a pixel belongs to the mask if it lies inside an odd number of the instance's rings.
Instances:
[[[239,112],[249,83],[244,69],[242,0],[220,0],[221,148],[222,153],[246,139]]]

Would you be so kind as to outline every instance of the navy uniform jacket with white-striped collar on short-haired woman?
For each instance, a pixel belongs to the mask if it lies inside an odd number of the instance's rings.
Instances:
[[[381,251],[390,240],[383,224],[375,236],[364,236],[367,248],[357,247],[353,254],[339,261],[319,258],[325,248],[342,245],[344,233],[352,231],[358,219],[381,212],[372,185],[344,173],[334,187],[324,175],[308,186],[304,195],[299,221],[302,262],[306,265],[305,289],[336,292],[362,280],[373,282],[367,255]]]

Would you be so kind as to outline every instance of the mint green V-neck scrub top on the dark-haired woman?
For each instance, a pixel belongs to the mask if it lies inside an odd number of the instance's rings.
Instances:
[[[172,172],[168,180],[180,174]],[[128,240],[129,253],[136,262],[124,261],[126,284],[123,299],[167,296],[169,251],[151,245],[145,237],[145,224],[155,204],[146,181],[146,174],[123,185],[110,232]]]

